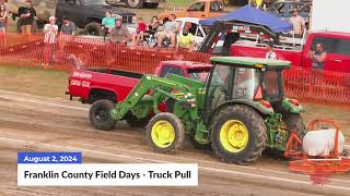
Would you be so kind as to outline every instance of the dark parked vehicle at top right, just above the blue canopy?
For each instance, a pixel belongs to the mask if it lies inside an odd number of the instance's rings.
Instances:
[[[311,7],[312,3],[279,0],[267,7],[266,11],[288,21],[293,14],[292,11],[298,9],[299,15],[304,17],[306,26],[308,26]]]

